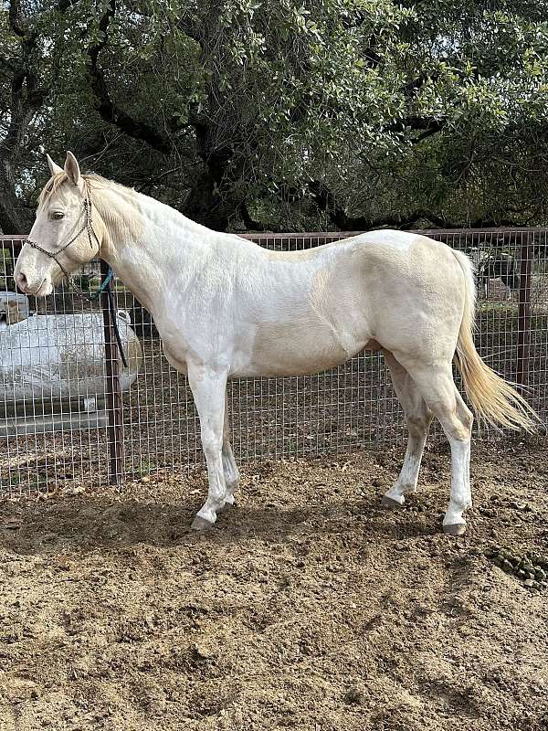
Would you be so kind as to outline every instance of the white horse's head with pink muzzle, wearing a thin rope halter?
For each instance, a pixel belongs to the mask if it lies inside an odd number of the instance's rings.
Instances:
[[[14,271],[17,287],[38,297],[50,294],[58,281],[96,256],[102,234],[100,221],[91,218],[95,210],[76,157],[68,152],[64,169],[49,155],[47,164],[51,177]]]

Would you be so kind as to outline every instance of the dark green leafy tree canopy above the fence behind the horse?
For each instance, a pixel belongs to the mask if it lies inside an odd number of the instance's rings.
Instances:
[[[543,0],[0,8],[5,233],[67,149],[219,230],[546,223]]]

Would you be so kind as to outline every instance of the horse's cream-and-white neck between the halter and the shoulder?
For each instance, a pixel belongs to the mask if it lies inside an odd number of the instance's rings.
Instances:
[[[174,286],[184,286],[193,263],[223,236],[153,198],[123,189],[109,190],[101,204],[109,231],[101,256],[153,313],[166,303]]]

